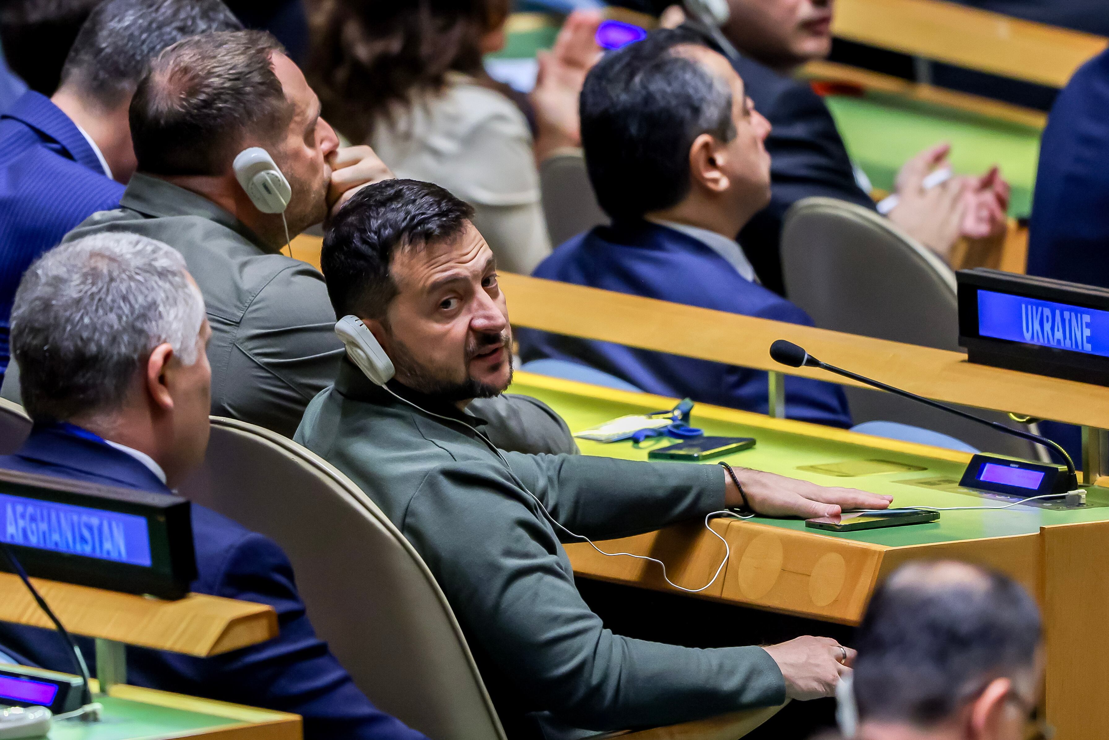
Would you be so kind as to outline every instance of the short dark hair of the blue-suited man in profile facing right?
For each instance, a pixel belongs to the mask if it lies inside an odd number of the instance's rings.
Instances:
[[[665,29],[612,52],[581,90],[581,143],[597,200],[612,219],[667,209],[689,193],[690,146],[735,136],[732,92],[675,47],[704,45]]]

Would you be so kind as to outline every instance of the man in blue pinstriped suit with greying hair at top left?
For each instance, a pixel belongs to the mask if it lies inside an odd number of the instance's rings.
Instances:
[[[120,203],[135,169],[128,108],[150,60],[190,36],[238,28],[220,0],[108,0],[81,28],[53,97],[28,91],[0,116],[0,378],[23,271]]]

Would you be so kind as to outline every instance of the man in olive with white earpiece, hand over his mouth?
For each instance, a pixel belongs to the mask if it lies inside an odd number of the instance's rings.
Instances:
[[[343,345],[322,276],[281,251],[393,174],[369,146],[339,145],[304,74],[261,31],[166,49],[140,82],[130,120],[139,168],[120,207],[67,241],[132,232],[181,252],[212,324],[212,413],[292,436],[334,381]],[[535,399],[498,399],[489,410],[506,442],[576,449]]]

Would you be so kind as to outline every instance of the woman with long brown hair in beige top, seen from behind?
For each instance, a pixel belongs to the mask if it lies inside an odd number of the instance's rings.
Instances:
[[[481,63],[505,44],[508,9],[509,0],[327,0],[311,71],[339,132],[369,143],[398,178],[470,203],[498,265],[530,273],[551,250],[537,162],[580,145],[578,94],[599,57],[600,17],[572,14],[540,54],[521,101],[535,112],[532,136],[511,90]]]

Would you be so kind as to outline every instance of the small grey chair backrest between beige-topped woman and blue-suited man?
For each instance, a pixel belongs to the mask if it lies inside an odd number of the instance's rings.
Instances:
[[[593,226],[609,223],[597,203],[581,150],[564,150],[543,160],[539,165],[539,185],[547,233],[554,246]]]

